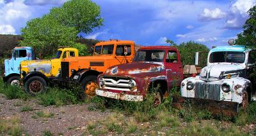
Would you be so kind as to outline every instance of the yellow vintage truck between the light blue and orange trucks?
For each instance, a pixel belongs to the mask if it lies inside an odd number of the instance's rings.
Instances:
[[[31,95],[44,92],[52,79],[58,76],[63,58],[77,57],[76,48],[60,47],[51,60],[27,60],[20,63],[20,79],[25,91]]]

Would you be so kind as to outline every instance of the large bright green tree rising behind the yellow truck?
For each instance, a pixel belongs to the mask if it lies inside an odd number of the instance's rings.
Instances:
[[[87,46],[76,43],[77,34],[92,32],[102,25],[100,8],[90,0],[71,0],[59,8],[52,8],[49,14],[27,22],[21,29],[21,46],[36,48],[36,54],[52,57],[58,46],[70,46],[87,55]]]

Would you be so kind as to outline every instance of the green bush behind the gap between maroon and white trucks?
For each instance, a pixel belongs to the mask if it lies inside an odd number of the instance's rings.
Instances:
[[[179,49],[182,65],[195,65],[195,53],[198,51],[200,52],[198,67],[204,67],[207,65],[209,48],[207,48],[207,46],[204,44],[188,41],[186,43],[177,45],[170,39],[166,40],[166,43],[170,43],[171,46],[175,46]]]

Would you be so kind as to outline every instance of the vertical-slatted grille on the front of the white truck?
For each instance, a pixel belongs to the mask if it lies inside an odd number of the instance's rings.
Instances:
[[[195,98],[220,100],[221,85],[219,84],[195,84]]]

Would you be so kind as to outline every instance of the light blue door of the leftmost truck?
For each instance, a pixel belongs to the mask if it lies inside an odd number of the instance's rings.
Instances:
[[[13,53],[13,57],[14,57],[13,67],[11,68],[11,70],[15,73],[19,73],[20,62],[24,60],[28,60],[27,50],[26,49],[15,50]]]

